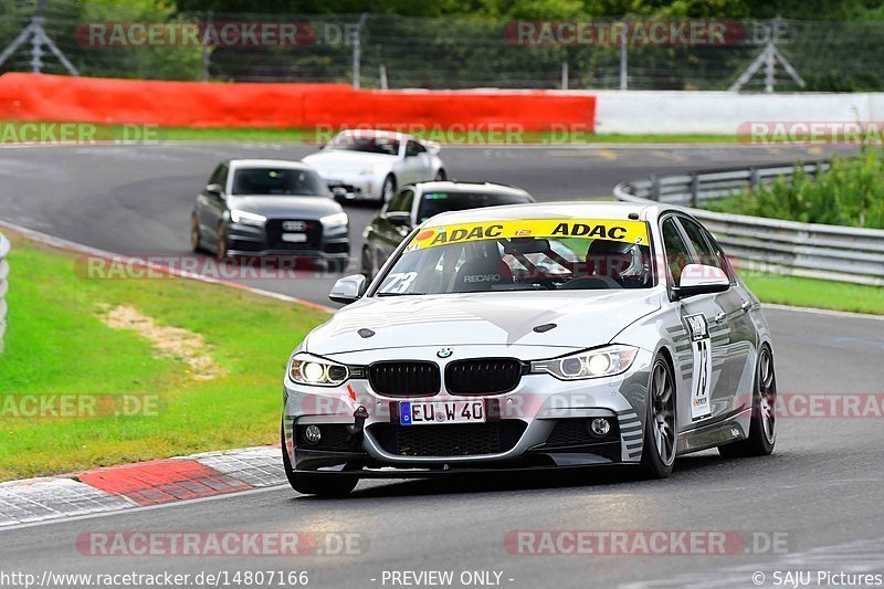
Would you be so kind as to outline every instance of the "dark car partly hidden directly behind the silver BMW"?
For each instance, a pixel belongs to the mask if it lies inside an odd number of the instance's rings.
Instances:
[[[362,274],[371,280],[411,230],[434,214],[534,202],[520,188],[491,182],[431,181],[402,187],[362,232]]]

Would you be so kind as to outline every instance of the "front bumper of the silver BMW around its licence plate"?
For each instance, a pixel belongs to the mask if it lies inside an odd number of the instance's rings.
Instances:
[[[561,381],[530,374],[504,395],[452,396],[443,383],[442,392],[420,399],[483,399],[484,424],[401,425],[403,399],[377,393],[368,380],[319,388],[286,378],[285,451],[295,471],[360,477],[636,464],[650,365],[651,354],[640,350],[630,370],[615,377]],[[355,417],[359,408],[367,417]],[[596,418],[610,422],[608,435],[587,431]],[[319,443],[306,441],[307,425],[324,432]]]

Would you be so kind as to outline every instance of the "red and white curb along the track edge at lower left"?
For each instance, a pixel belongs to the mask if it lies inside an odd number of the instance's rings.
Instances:
[[[280,452],[244,448],[0,483],[0,529],[281,485]]]

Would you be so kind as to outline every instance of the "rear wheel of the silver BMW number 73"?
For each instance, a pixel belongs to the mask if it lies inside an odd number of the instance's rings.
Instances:
[[[753,391],[753,418],[749,437],[739,442],[718,446],[726,459],[767,456],[777,443],[777,375],[774,370],[774,353],[765,344],[758,354]]]

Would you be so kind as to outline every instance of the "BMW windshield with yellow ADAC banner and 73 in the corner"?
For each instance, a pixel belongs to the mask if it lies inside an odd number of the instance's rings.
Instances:
[[[421,230],[396,260],[377,295],[651,286],[644,222],[545,219]]]

